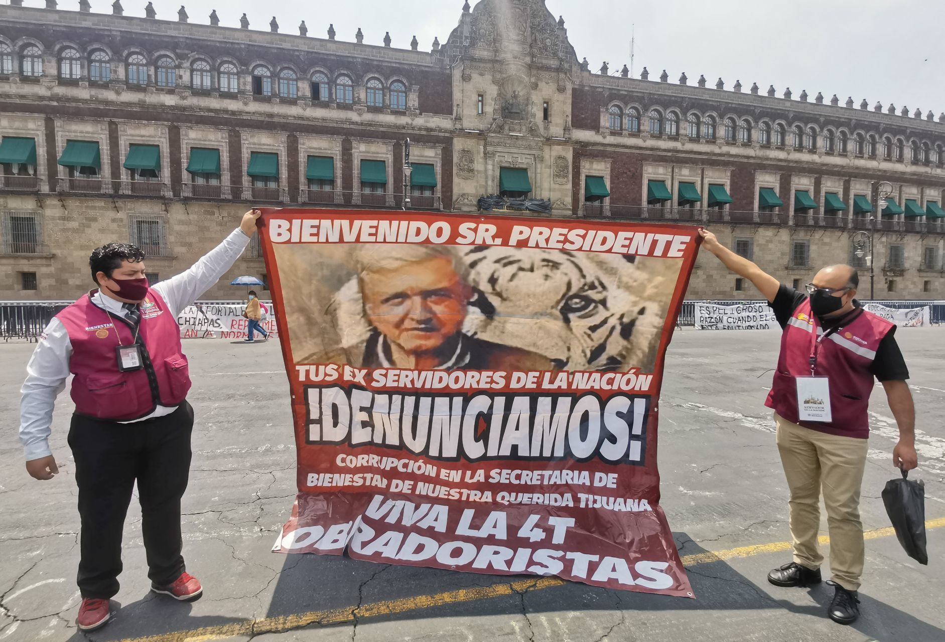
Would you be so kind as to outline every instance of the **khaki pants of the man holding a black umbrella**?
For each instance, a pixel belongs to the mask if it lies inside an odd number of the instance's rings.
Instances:
[[[860,485],[867,465],[868,440],[812,431],[777,413],[774,420],[784,476],[791,491],[794,561],[808,568],[818,568],[823,562],[817,549],[822,490],[830,532],[831,579],[855,591],[863,574]]]

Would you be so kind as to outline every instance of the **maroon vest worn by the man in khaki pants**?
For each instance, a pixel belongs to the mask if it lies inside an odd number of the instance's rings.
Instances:
[[[794,378],[811,375],[812,340],[823,334],[811,313],[810,301],[805,299],[787,320],[782,333],[778,369],[765,406],[813,431],[867,439],[867,408],[873,390],[869,366],[876,358],[880,340],[892,328],[892,322],[864,310],[821,341],[815,375],[830,380],[833,421],[798,421],[798,387]]]

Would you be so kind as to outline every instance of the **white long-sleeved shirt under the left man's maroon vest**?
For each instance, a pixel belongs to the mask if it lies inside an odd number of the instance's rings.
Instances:
[[[181,272],[176,277],[156,283],[153,288],[162,296],[170,313],[177,318],[184,308],[226,274],[247,245],[249,245],[249,236],[242,229],[236,228],[223,240],[223,243],[210,250],[190,269]],[[122,308],[121,301],[105,296],[101,292],[96,292],[92,296],[92,302],[114,316],[125,317],[128,313]],[[69,333],[60,320],[54,317],[40,335],[40,341],[33,350],[33,356],[26,364],[26,381],[20,390],[22,393],[20,441],[26,451],[27,462],[52,454],[48,441],[53,420],[53,407],[56,397],[65,388],[65,381],[69,378],[71,357],[72,343],[69,341]],[[177,406],[158,405],[153,413],[134,421],[171,414],[175,410]]]

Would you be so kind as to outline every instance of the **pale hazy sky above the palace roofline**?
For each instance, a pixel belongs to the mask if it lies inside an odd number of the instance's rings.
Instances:
[[[112,11],[112,0],[91,3],[94,12]],[[177,20],[181,3],[192,23],[207,24],[215,8],[222,25],[238,26],[246,12],[251,29],[267,31],[275,13],[287,33],[298,33],[304,20],[310,35],[324,37],[333,23],[338,40],[353,42],[360,26],[365,42],[382,44],[389,31],[395,47],[409,47],[416,35],[421,49],[429,49],[434,36],[446,41],[463,0],[281,0],[265,9],[258,0],[154,0],[154,8],[159,19]],[[145,14],[146,0],[122,4],[126,15]],[[629,65],[632,29],[634,76],[645,65],[651,79],[665,69],[670,82],[685,72],[695,84],[704,74],[709,86],[721,76],[726,90],[739,79],[746,92],[752,82],[763,93],[773,84],[779,96],[790,87],[795,100],[807,90],[812,101],[817,92],[828,101],[836,93],[841,104],[850,95],[857,106],[866,98],[870,109],[878,100],[884,110],[891,101],[897,110],[908,106],[910,113],[917,107],[933,110],[936,119],[945,111],[942,0],[547,0],[546,5],[564,16],[578,59],[587,57],[595,71],[604,60],[611,73]],[[59,7],[77,9],[78,0],[60,0]]]

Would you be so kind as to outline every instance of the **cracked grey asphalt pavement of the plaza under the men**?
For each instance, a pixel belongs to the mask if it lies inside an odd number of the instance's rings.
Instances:
[[[868,531],[863,617],[851,627],[826,617],[831,587],[788,589],[765,580],[770,568],[790,561],[787,488],[763,405],[778,338],[773,330],[683,329],[668,351],[662,507],[695,600],[270,552],[295,496],[279,346],[188,340],[197,424],[184,555],[204,596],[180,603],[148,592],[141,514],[132,501],[113,621],[87,636],[75,628],[77,491],[66,446],[72,404],[60,396],[53,425],[60,475],[31,480],[16,433],[32,346],[0,345],[0,414],[8,426],[0,440],[0,641],[945,640],[945,329],[898,333],[918,414],[913,477],[926,484],[934,527],[929,566],[908,558],[889,533],[880,492],[898,476],[891,459],[897,431],[877,387],[861,503]]]

